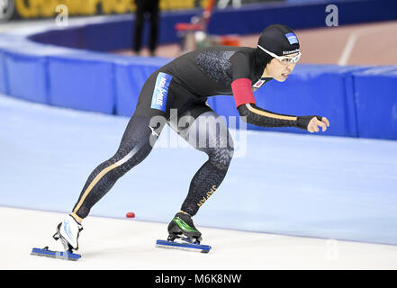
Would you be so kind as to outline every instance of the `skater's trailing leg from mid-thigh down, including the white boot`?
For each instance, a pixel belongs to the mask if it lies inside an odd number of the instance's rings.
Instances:
[[[61,240],[65,250],[78,249],[81,221],[116,181],[147,157],[166,123],[162,116],[134,114],[122,136],[120,147],[110,159],[89,175],[73,211],[59,223],[53,238]]]

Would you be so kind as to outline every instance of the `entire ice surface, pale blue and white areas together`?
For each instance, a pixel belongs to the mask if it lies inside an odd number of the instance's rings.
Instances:
[[[95,205],[80,260],[32,257],[32,247],[50,245],[87,175],[113,155],[128,118],[5,95],[0,114],[1,269],[397,268],[397,143],[264,131],[248,131],[194,217],[209,254],[155,247],[205,160],[177,146],[155,147]]]

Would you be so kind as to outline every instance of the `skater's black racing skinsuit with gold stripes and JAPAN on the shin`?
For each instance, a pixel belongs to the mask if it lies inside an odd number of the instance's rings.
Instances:
[[[195,119],[204,112],[216,116],[205,103],[207,97],[233,94],[231,84],[240,78],[257,84],[265,66],[266,63],[262,63],[257,56],[257,49],[223,46],[194,50],[155,71],[141,89],[136,110],[122,136],[120,147],[113,157],[89,175],[71,215],[77,220],[84,219],[95,202],[122,175],[149,155],[165,123],[153,125],[153,116],[163,116],[165,121],[169,121],[171,109],[177,109],[178,117],[188,114]],[[270,78],[262,80],[266,83]],[[255,89],[257,87],[253,87]],[[259,126],[305,129],[308,122],[305,117],[268,112],[255,103],[243,103],[238,110],[241,116],[247,117],[246,121]],[[226,142],[226,145],[198,148],[209,159],[194,175],[181,208],[192,216],[219,187],[230,165],[233,144],[230,139],[221,139],[220,134],[207,131],[206,137],[210,142]]]

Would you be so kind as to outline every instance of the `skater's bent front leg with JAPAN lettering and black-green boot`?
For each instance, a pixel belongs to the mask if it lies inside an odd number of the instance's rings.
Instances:
[[[181,211],[168,225],[169,239],[183,233],[200,241],[201,233],[195,229],[192,217],[223,181],[233,157],[233,142],[226,122],[205,104],[185,112],[178,121],[169,121],[169,125],[190,145],[208,155],[191,181]]]

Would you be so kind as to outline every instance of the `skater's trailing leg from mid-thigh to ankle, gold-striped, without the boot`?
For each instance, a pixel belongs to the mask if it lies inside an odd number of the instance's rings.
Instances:
[[[133,115],[113,157],[97,166],[88,176],[71,216],[81,222],[90,209],[107,193],[116,181],[147,157],[164,127],[149,116]],[[152,127],[152,129],[149,128]]]

